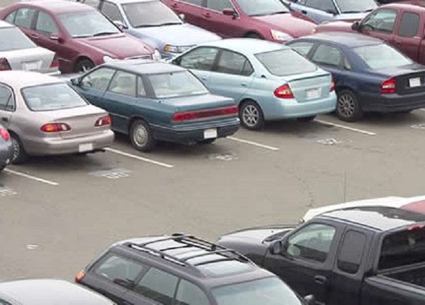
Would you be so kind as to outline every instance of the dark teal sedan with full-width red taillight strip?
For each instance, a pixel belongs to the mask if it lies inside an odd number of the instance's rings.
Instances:
[[[210,94],[191,72],[164,62],[108,62],[71,84],[108,111],[113,131],[130,135],[137,150],[152,150],[157,140],[212,143],[240,126],[233,99]]]

